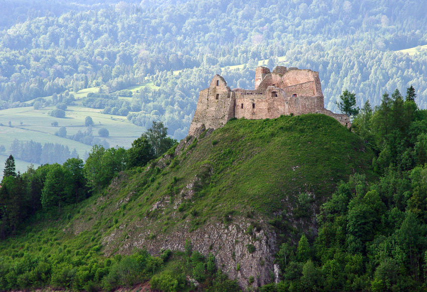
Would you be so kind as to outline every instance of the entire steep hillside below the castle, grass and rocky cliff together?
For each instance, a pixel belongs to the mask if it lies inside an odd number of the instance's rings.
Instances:
[[[119,174],[100,195],[1,242],[0,264],[42,253],[100,261],[135,247],[184,251],[191,242],[240,285],[258,286],[276,276],[278,244],[317,232],[314,215],[337,182],[356,172],[371,177],[372,151],[324,115],[202,130],[146,168]]]

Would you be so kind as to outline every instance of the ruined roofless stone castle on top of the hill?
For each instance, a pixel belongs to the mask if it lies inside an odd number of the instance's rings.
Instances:
[[[232,118],[275,119],[281,115],[319,113],[333,117],[350,128],[347,115],[335,114],[324,107],[318,72],[309,69],[277,66],[255,71],[255,89],[230,89],[220,75],[213,76],[209,87],[199,93],[196,112],[188,135],[194,135],[203,124],[223,127]]]

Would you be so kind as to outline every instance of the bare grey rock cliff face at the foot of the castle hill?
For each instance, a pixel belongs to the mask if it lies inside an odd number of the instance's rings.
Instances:
[[[233,221],[230,225],[207,224],[192,232],[189,232],[188,226],[183,226],[175,233],[157,235],[155,239],[150,239],[151,230],[140,230],[122,251],[131,252],[135,247],[146,248],[151,254],[159,254],[165,249],[185,251],[185,241],[189,239],[193,250],[205,256],[214,254],[217,267],[230,278],[237,279],[240,286],[257,287],[270,283],[271,274],[274,273],[275,233],[266,229],[248,235],[245,233],[250,225],[247,219],[237,217]],[[135,232],[138,232],[138,228],[135,228]],[[114,236],[106,238],[107,247],[114,242]],[[255,248],[253,252],[248,249],[251,245]],[[252,284],[249,283],[251,276],[255,280]]]

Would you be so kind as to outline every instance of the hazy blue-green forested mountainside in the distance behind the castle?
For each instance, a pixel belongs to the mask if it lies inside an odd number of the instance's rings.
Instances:
[[[145,128],[162,120],[183,138],[213,74],[251,88],[260,60],[318,70],[332,110],[344,89],[359,106],[378,105],[384,91],[411,84],[427,108],[427,54],[397,52],[427,44],[422,0],[14,3],[0,23],[0,109],[153,81],[160,88],[133,96],[129,120]]]

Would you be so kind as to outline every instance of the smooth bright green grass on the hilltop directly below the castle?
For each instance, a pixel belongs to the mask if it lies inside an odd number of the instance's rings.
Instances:
[[[140,212],[165,196],[174,198],[196,178],[191,209],[203,217],[236,208],[271,216],[300,193],[323,201],[341,179],[368,172],[372,157],[356,135],[324,115],[233,120],[150,176],[149,181],[155,181],[137,191],[148,200]],[[130,178],[124,191],[132,191],[147,176]],[[171,206],[165,212],[175,211]]]

